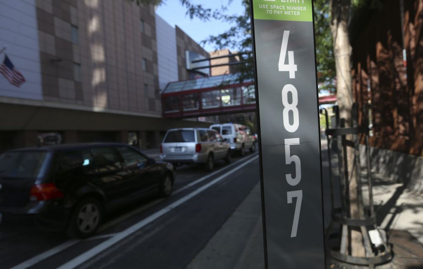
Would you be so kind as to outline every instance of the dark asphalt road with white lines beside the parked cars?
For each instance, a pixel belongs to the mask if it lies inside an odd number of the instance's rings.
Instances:
[[[246,154],[212,173],[179,167],[172,196],[109,215],[90,239],[0,226],[0,268],[186,268],[258,181],[258,154]]]

